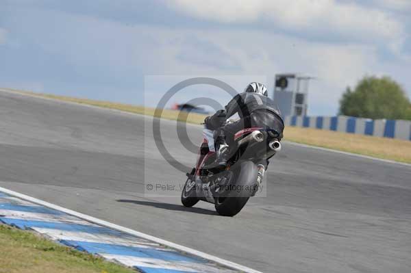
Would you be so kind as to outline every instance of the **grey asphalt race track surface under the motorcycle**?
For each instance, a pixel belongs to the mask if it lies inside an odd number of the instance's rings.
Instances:
[[[144,194],[151,181],[185,181],[151,122],[0,92],[0,186],[262,272],[411,272],[410,166],[284,143],[266,197],[221,217],[208,203],[182,207],[178,188]],[[171,155],[193,165],[176,122],[161,129]],[[199,143],[201,128],[187,130]]]

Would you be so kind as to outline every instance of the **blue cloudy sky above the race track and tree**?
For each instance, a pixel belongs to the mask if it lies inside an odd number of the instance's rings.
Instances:
[[[317,77],[309,114],[332,115],[364,75],[411,96],[409,14],[408,0],[3,0],[0,86],[143,104],[147,75],[239,75],[241,88],[299,72]]]

